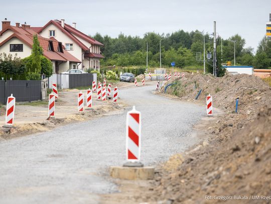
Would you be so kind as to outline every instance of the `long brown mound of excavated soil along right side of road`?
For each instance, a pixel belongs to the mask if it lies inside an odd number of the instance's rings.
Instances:
[[[202,144],[173,156],[157,170],[145,196],[161,203],[269,202],[271,199],[271,89],[250,75],[176,79],[167,93],[180,99],[213,96],[225,114],[208,123]],[[239,97],[238,114],[234,113]],[[176,162],[175,162],[176,160]],[[177,163],[177,165],[176,165]],[[221,197],[218,197],[221,196]],[[228,197],[226,197],[228,196]],[[254,196],[254,197],[252,197]],[[144,201],[144,200],[141,200]]]

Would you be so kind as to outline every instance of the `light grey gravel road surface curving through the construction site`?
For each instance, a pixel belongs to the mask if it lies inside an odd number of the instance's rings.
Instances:
[[[205,112],[204,106],[154,95],[154,88],[119,90],[142,112],[145,165],[197,142],[191,127]],[[98,203],[100,193],[117,191],[106,173],[125,161],[126,111],[2,141],[0,203]]]

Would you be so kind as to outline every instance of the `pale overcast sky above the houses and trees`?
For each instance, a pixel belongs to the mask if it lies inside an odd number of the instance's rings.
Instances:
[[[0,0],[1,20],[7,18],[33,26],[44,26],[54,19],[77,23],[85,34],[140,36],[146,32],[172,33],[200,30],[216,31],[226,39],[234,34],[246,40],[245,47],[257,48],[265,35],[271,13],[271,0]]]

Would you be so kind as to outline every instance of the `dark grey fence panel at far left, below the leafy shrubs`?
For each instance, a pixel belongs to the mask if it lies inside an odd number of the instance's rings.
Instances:
[[[11,80],[6,85],[7,97],[11,94],[16,101],[41,100],[41,81]]]

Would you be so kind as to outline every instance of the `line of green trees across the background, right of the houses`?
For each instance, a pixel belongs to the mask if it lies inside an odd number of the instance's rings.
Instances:
[[[149,32],[143,38],[138,36],[126,36],[119,34],[117,38],[108,35],[101,36],[96,33],[92,36],[95,40],[104,44],[101,52],[105,59],[101,60],[102,66],[146,66],[147,42],[148,42],[148,64],[151,67],[160,66],[160,40],[162,65],[169,67],[171,62],[175,62],[177,67],[191,65],[202,65],[202,61],[196,60],[196,55],[203,60],[203,36],[198,30],[185,32],[179,30],[171,34],[158,34]],[[230,41],[231,40],[231,41]],[[217,63],[234,61],[234,43],[236,65],[254,66],[255,68],[271,67],[271,42],[265,37],[260,41],[254,54],[251,47],[245,48],[245,39],[238,34],[228,39],[217,38]],[[205,47],[213,56],[213,36],[205,34]],[[222,47],[222,52],[221,52]],[[211,63],[211,62],[210,62]],[[210,69],[211,70],[211,69]]]

